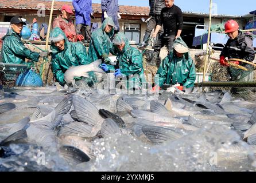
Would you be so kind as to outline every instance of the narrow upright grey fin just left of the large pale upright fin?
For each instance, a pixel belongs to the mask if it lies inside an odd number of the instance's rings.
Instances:
[[[61,120],[64,114],[67,114],[72,106],[72,96],[65,97],[55,108],[55,121]]]

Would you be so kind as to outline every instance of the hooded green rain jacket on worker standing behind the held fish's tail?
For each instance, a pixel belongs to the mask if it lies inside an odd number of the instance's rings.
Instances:
[[[107,25],[112,25],[113,29],[110,33],[106,33],[104,29]],[[92,32],[90,46],[88,49],[88,56],[92,61],[101,59],[102,57],[108,57],[112,43],[110,38],[114,35],[114,22],[112,18],[108,17],[102,22],[102,26]]]

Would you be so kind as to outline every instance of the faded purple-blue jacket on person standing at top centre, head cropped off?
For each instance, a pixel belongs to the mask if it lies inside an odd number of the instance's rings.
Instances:
[[[119,12],[118,0],[102,1],[102,22],[104,21],[104,11],[107,11],[108,17],[111,17],[115,23],[115,30],[119,30],[117,13]]]

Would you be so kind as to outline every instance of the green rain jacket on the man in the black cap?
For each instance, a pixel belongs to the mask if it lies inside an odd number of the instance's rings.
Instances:
[[[2,40],[0,62],[25,64],[25,58],[38,61],[39,53],[27,49],[21,41],[20,34],[15,33],[13,29],[10,29]]]

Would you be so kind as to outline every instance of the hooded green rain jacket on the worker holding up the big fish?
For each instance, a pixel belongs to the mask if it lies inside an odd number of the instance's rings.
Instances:
[[[86,47],[79,42],[69,42],[66,35],[59,27],[52,30],[50,37],[58,37],[60,34],[63,35],[65,39],[65,48],[60,51],[54,43],[52,43],[52,72],[57,81],[61,85],[64,85],[64,73],[69,67],[87,65],[91,63],[91,61],[87,57]]]

